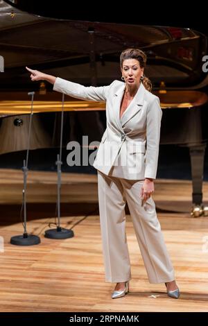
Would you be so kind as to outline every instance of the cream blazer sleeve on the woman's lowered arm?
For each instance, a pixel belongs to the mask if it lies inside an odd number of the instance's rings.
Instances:
[[[155,96],[147,108],[146,168],[144,178],[156,179],[161,119],[162,109],[160,108],[159,98]]]

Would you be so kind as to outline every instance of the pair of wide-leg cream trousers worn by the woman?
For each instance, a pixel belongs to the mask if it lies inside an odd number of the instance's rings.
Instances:
[[[142,205],[140,191],[144,180],[128,180],[98,171],[98,198],[106,282],[131,279],[130,257],[125,235],[125,203],[135,228],[150,283],[175,280],[173,266],[152,197]]]

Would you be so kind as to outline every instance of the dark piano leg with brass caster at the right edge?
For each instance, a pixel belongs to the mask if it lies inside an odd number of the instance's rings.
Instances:
[[[191,157],[191,176],[192,176],[192,212],[191,216],[198,217],[207,215],[207,207],[202,205],[202,182],[204,174],[206,144],[195,146],[189,145],[189,153]]]

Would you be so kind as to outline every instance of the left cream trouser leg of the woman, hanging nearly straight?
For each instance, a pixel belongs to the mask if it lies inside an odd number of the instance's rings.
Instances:
[[[131,279],[125,235],[125,198],[118,178],[98,171],[98,201],[106,282]]]

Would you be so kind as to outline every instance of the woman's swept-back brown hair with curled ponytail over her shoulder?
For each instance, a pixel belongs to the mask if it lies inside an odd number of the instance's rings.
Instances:
[[[139,61],[140,68],[146,67],[146,54],[139,49],[125,49],[123,50],[123,52],[121,52],[120,55],[121,68],[123,68],[123,61],[126,59],[136,59],[137,61]],[[149,92],[151,92],[153,85],[150,79],[144,76],[144,79],[141,80],[141,82],[143,83],[144,87]]]

